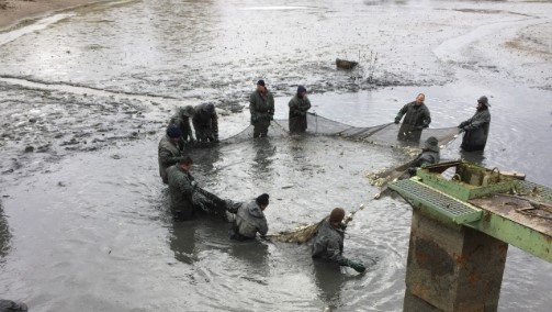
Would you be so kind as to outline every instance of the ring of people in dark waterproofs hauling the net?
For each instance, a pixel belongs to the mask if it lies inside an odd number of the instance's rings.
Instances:
[[[397,138],[402,141],[419,141],[424,129],[431,123],[429,109],[424,103],[425,96],[418,94],[415,101],[404,105],[395,123],[401,123],[404,116]],[[462,148],[465,151],[482,151],[485,147],[488,134],[491,114],[488,113],[488,100],[481,97],[477,112],[473,118],[459,125],[459,132],[464,132]],[[296,94],[289,102],[290,133],[302,133],[307,130],[307,112],[311,101],[306,96],[306,88],[297,87]],[[263,80],[257,82],[256,90],[249,97],[250,124],[254,126],[254,138],[266,137],[270,123],[274,115],[274,98],[266,87]],[[195,137],[190,125],[192,121]],[[194,193],[207,193],[198,186],[191,175],[193,159],[184,155],[184,149],[193,146],[194,142],[218,142],[218,121],[214,104],[203,103],[196,107],[180,108],[170,119],[166,135],[158,146],[159,175],[164,183],[169,187],[170,209],[176,221],[188,221],[195,218],[196,213],[205,210],[195,202]],[[188,147],[187,147],[188,146]],[[429,137],[423,152],[413,161],[410,174],[417,167],[438,163],[439,142],[436,137]],[[213,196],[215,197],[215,196]],[[215,197],[216,198],[216,197]],[[269,205],[269,194],[262,193],[250,202],[234,202],[217,199],[216,213],[224,212],[226,219],[232,221],[230,238],[236,241],[252,239],[259,233],[266,237],[268,223],[264,210]],[[228,218],[229,215],[229,218]],[[336,208],[324,219],[312,239],[312,256],[329,260],[340,266],[348,266],[362,272],[365,267],[358,261],[347,259],[343,252],[343,231],[348,220],[345,210]]]

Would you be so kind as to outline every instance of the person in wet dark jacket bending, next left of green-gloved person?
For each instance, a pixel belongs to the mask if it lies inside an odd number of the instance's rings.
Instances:
[[[264,210],[269,205],[269,194],[263,193],[250,202],[235,203],[227,207],[228,212],[236,218],[232,225],[230,238],[236,241],[252,239],[259,233],[267,235],[269,226]]]

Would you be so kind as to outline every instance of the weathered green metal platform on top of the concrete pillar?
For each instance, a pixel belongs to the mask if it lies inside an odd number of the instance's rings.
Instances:
[[[420,168],[390,188],[437,220],[475,229],[552,263],[552,189],[519,178],[459,160]]]

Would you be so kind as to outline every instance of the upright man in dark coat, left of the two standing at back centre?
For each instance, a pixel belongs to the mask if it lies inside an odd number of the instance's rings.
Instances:
[[[274,119],[274,97],[264,86],[264,80],[257,82],[257,90],[249,97],[249,112],[254,137],[266,137],[270,121]]]

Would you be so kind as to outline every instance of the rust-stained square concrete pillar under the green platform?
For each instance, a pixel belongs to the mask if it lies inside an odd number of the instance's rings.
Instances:
[[[496,311],[508,244],[414,209],[404,311]]]

